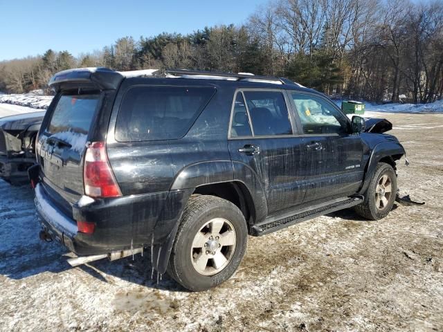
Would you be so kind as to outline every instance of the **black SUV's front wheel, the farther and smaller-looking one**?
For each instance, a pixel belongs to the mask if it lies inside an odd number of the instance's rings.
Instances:
[[[383,180],[385,179],[387,180],[383,185]],[[388,192],[388,188],[390,192]],[[388,193],[390,194],[388,195]],[[356,205],[354,210],[365,219],[382,219],[392,210],[396,194],[397,176],[394,169],[389,164],[379,163],[365,192],[363,203]]]

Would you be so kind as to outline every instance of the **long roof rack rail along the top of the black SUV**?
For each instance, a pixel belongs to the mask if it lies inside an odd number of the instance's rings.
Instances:
[[[291,80],[288,80],[287,78],[280,78],[280,77],[273,77],[273,76],[260,76],[260,75],[253,75],[250,73],[224,73],[220,71],[189,71],[188,69],[167,69],[165,71],[166,74],[170,75],[181,75],[182,77],[192,77],[192,78],[199,78],[198,76],[202,76],[201,78],[213,78],[217,77],[216,79],[225,78],[226,80],[236,80],[236,81],[246,81],[246,82],[269,82],[273,84],[291,84],[291,85],[300,85],[295,82],[292,82]],[[183,78],[185,78],[183,77]]]

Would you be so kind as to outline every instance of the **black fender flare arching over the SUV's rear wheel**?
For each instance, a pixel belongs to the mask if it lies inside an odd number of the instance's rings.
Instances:
[[[253,194],[253,191],[251,191],[251,185],[254,185],[254,183],[260,183],[260,181],[258,181],[258,178],[256,178],[256,174],[252,169],[244,172],[246,172],[245,174],[247,176],[240,181],[240,179],[235,179],[235,167],[233,167],[233,162],[231,160],[213,160],[189,165],[177,173],[170,187],[170,194],[168,195],[167,202],[163,207],[163,212],[161,213],[154,227],[151,248],[152,268],[154,270],[160,274],[166,272],[175,235],[177,234],[181,216],[183,215],[183,210],[188,203],[192,192],[194,192],[195,188],[201,185],[227,182],[233,183],[235,181],[242,182],[253,199],[255,216],[262,216],[263,214],[266,216],[267,208],[266,200],[264,199],[264,192],[260,201],[255,201],[257,194]],[[171,199],[172,195],[177,193],[179,193],[179,200]],[[172,201],[175,201],[175,203]],[[264,204],[262,201],[264,201]],[[173,223],[169,223],[169,225],[165,227],[162,221],[170,220],[170,218],[168,218],[168,211],[171,211],[172,206],[174,209],[177,209],[180,212],[174,218]],[[168,231],[165,231],[165,228],[168,229]],[[162,239],[162,241],[156,242],[154,241],[155,239]]]

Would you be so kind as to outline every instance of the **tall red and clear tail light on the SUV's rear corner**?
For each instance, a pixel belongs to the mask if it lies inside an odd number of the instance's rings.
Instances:
[[[84,156],[84,194],[95,198],[122,196],[106,154],[105,142],[93,142]]]

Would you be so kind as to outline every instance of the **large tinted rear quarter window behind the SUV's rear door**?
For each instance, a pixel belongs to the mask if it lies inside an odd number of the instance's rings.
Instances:
[[[136,86],[125,94],[116,140],[170,140],[183,137],[215,93],[209,87]]]

